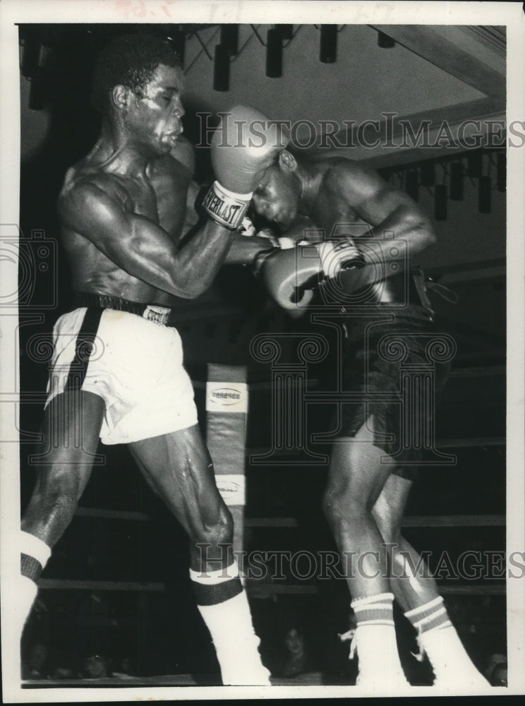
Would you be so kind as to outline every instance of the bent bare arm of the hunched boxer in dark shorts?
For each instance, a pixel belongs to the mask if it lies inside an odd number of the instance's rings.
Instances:
[[[396,241],[401,242],[402,252],[406,243],[409,255],[435,242],[430,218],[406,193],[394,189],[379,174],[345,160],[334,168],[329,179],[331,183],[327,186],[337,189],[351,209],[372,226],[363,236],[366,259],[367,253],[383,262],[397,259],[392,255]]]

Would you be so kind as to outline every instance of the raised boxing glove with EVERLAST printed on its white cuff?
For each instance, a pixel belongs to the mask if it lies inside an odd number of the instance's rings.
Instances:
[[[255,108],[236,106],[222,114],[212,136],[216,181],[203,206],[220,225],[236,229],[251,201],[258,174],[270,166],[289,138]]]

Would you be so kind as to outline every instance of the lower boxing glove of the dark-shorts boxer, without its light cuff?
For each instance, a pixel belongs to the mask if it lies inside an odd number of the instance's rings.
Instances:
[[[315,245],[260,253],[255,270],[270,297],[283,309],[304,309],[322,276]]]

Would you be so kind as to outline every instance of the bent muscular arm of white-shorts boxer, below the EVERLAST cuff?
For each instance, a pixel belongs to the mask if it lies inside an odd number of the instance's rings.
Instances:
[[[209,220],[178,249],[150,218],[126,210],[92,181],[79,181],[59,199],[63,225],[90,240],[115,265],[147,284],[192,299],[210,287],[231,245],[231,232]]]

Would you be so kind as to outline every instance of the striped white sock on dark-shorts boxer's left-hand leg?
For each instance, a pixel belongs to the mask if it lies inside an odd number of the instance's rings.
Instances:
[[[393,602],[392,593],[351,602],[357,619],[354,647],[359,659],[359,686],[387,690],[409,686],[397,652]]]

